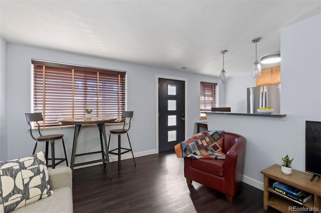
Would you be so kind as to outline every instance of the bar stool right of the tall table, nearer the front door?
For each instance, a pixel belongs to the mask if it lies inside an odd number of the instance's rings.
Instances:
[[[118,135],[118,147],[114,148],[114,149],[112,149],[110,151],[108,150],[108,153],[118,155],[118,173],[120,173],[120,155],[121,154],[124,154],[124,153],[126,153],[128,151],[131,151],[132,158],[134,159],[134,164],[136,165],[135,157],[134,157],[134,154],[132,152],[131,144],[130,144],[130,140],[129,140],[129,136],[128,136],[128,130],[130,128],[130,121],[131,121],[133,113],[134,113],[133,111],[122,111],[121,117],[125,118],[123,127],[122,128],[118,128],[118,129],[110,129],[109,140],[108,140],[108,148],[109,148],[109,143],[110,143],[110,135],[111,134],[117,134]],[[126,122],[128,122],[128,124],[129,124],[127,129],[125,128]],[[124,134],[124,133],[127,134],[127,138],[128,138],[128,142],[129,142],[130,148],[121,147],[120,135]],[[124,151],[121,151],[121,149],[123,149]],[[116,150],[117,150],[117,152],[115,152]]]

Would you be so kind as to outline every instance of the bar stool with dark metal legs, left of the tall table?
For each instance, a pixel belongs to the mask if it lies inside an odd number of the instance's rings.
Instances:
[[[63,161],[66,160],[66,164],[68,166],[68,160],[67,160],[67,154],[66,154],[66,148],[65,148],[65,142],[64,142],[64,138],[63,138],[63,134],[48,134],[48,135],[42,135],[40,132],[40,124],[38,123],[38,121],[42,121],[44,120],[42,113],[25,113],[26,114],[26,119],[27,122],[30,126],[30,135],[31,137],[36,140],[36,144],[34,147],[34,151],[32,154],[35,154],[36,148],[37,148],[37,144],[38,141],[44,142],[46,141],[46,164],[48,167],[52,167],[55,168],[56,165],[62,163]],[[32,124],[31,122],[36,122],[38,125],[38,133],[40,136],[35,137],[32,133]],[[65,158],[55,158],[55,141],[56,140],[62,140],[62,145],[64,147],[64,152],[65,152]],[[49,148],[49,141],[51,143],[51,158],[48,158],[48,148]],[[58,162],[55,162],[55,160],[59,160]],[[48,160],[51,160],[52,164],[48,165]]]

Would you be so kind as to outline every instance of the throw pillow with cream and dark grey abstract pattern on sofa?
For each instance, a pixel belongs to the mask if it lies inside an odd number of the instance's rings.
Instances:
[[[45,152],[0,161],[0,212],[10,212],[53,194]]]

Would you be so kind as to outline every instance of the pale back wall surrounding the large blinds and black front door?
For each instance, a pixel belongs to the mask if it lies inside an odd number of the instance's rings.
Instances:
[[[29,131],[27,131],[28,124],[24,114],[31,110],[31,58],[127,71],[127,106],[128,110],[134,111],[129,134],[135,156],[155,153],[156,150],[156,75],[168,75],[187,79],[187,98],[189,104],[186,114],[188,120],[188,136],[192,136],[196,133],[195,122],[200,119],[200,81],[218,82],[217,77],[9,43],[7,72],[7,113],[10,116],[10,119],[8,120],[8,159],[28,155],[32,152],[34,146],[34,141],[30,137]],[[109,127],[106,127],[106,131],[108,130]],[[67,143],[67,154],[70,156],[73,128],[48,130],[46,133],[54,132],[62,132],[65,134],[64,138]],[[82,128],[79,135],[77,151],[81,152],[84,147],[87,147],[88,151],[99,150],[100,144],[98,141],[98,129],[96,127]],[[57,143],[57,155],[61,153],[58,145],[59,144]],[[116,142],[111,145],[111,148],[115,145]],[[44,146],[42,146],[42,148],[43,147]],[[40,150],[40,148],[41,147],[39,147],[38,150]],[[130,156],[129,153],[128,156]],[[84,158],[87,160],[89,159],[89,156],[84,156]],[[84,158],[78,158],[79,160],[76,159],[76,161],[82,161]],[[112,158],[112,160],[113,159],[115,158]]]

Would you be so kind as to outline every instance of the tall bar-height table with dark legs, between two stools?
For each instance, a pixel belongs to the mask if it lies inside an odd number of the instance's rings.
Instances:
[[[109,178],[111,179],[105,123],[113,122],[115,120],[116,120],[116,118],[114,118],[114,117],[93,117],[90,119],[62,118],[62,119],[58,120],[60,123],[62,123],[64,125],[75,125],[74,141],[72,144],[72,155],[71,155],[71,163],[70,163],[70,168],[72,170],[74,169],[75,166],[87,165],[87,164],[96,163],[96,162],[103,162],[104,166],[106,166],[106,161],[107,161],[107,169],[108,169],[108,173],[109,173]],[[99,129],[101,151],[93,151],[93,152],[88,152],[88,153],[76,154],[77,139],[78,139],[81,125],[83,125],[83,124],[97,124],[97,127]],[[102,141],[103,139],[104,139],[106,151],[104,151],[104,146],[103,146],[103,141]],[[75,163],[76,156],[87,155],[87,154],[96,154],[96,153],[101,153],[102,158],[97,159],[97,160]]]

